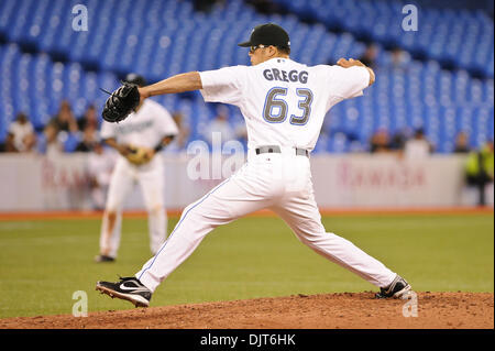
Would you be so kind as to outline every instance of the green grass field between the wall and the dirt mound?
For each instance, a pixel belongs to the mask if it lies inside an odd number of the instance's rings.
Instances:
[[[176,219],[169,220],[169,230]],[[493,292],[494,217],[323,217],[416,290]],[[133,308],[95,290],[98,279],[133,275],[150,259],[145,219],[125,219],[119,257],[96,264],[100,220],[0,221],[0,318],[70,314],[73,294],[89,311]],[[376,289],[301,244],[278,218],[220,227],[155,292],[152,306],[293,294]]]

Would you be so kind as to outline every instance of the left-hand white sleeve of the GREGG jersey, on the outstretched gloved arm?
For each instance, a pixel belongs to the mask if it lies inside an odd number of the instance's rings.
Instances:
[[[238,105],[242,100],[246,66],[232,66],[215,70],[200,72],[206,102]]]

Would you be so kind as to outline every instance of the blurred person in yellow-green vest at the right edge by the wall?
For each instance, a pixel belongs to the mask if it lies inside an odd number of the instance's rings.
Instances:
[[[488,141],[479,151],[469,154],[465,165],[466,183],[479,190],[479,206],[485,206],[485,187],[493,183],[494,154],[493,141]]]

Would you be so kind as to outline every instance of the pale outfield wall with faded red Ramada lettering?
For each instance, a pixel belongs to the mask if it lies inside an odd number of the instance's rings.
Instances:
[[[210,169],[207,177],[191,180],[191,156],[163,155],[165,202],[182,209],[222,179]],[[475,205],[476,194],[463,180],[465,158],[433,155],[404,160],[395,155],[316,155],[311,157],[315,195],[321,208],[414,208]],[[206,160],[208,167],[215,156]],[[0,211],[90,210],[87,154],[0,155]],[[493,205],[493,187],[487,190]],[[143,209],[138,187],[125,209]]]

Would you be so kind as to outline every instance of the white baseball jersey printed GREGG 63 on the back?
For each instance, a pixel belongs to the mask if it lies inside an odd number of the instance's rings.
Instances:
[[[205,101],[235,105],[244,116],[249,149],[279,145],[315,149],[328,110],[363,95],[364,67],[307,66],[272,58],[255,66],[200,73]]]

